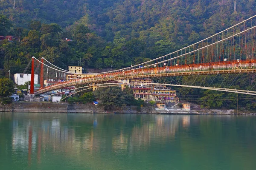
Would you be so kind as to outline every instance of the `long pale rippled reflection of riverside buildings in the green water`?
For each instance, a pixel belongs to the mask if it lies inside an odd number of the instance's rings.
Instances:
[[[80,155],[84,151],[95,153],[101,149],[134,150],[147,148],[153,143],[163,143],[174,139],[175,133],[179,127],[189,127],[189,115],[154,115],[150,118],[145,117],[147,121],[135,124],[130,136],[128,133],[120,132],[114,134],[105,134],[102,128],[102,119],[98,118],[97,127],[95,120],[91,117],[86,120],[94,126],[91,130],[80,132],[76,126],[61,125],[61,119],[45,120],[13,120],[13,148],[14,150],[23,149],[29,151],[29,127],[32,127],[31,133],[31,154],[37,154],[40,161],[41,154],[51,149],[52,152],[63,151],[70,156]],[[33,122],[34,121],[34,122]],[[81,122],[81,120],[79,121]],[[110,139],[107,141],[107,139]],[[81,152],[83,151],[83,152]]]

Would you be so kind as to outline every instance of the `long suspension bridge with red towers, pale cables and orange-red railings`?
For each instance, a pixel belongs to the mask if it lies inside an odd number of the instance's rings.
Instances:
[[[152,59],[131,67],[117,69],[113,71],[82,74],[79,72],[67,71],[53,65],[45,58],[37,59],[32,57],[31,88],[30,94],[44,94],[59,89],[95,89],[106,85],[126,85],[124,80],[143,78],[167,78],[167,77],[187,77],[240,74],[248,75],[256,73],[256,15],[237,23],[230,28],[214,34],[204,40],[184,47],[180,50],[166,54],[162,57]],[[30,65],[30,63],[29,63]],[[35,89],[34,75],[38,74],[38,89]],[[227,77],[226,76],[226,77]],[[215,79],[214,77],[214,79]],[[226,79],[225,77],[225,79]],[[227,91],[232,93],[256,95],[253,88],[231,89],[236,78],[227,87],[215,87],[210,83],[207,87],[204,82],[195,85],[195,81],[188,85],[180,81],[176,84],[165,84],[179,87],[202,88],[216,91]],[[212,79],[212,82],[213,80]],[[225,81],[223,79],[223,82]],[[48,82],[48,85],[46,85]],[[224,85],[225,83],[221,83]],[[103,86],[102,86],[103,85]],[[213,87],[211,86],[213,85]],[[62,91],[61,91],[62,92]],[[59,93],[61,93],[59,92]]]

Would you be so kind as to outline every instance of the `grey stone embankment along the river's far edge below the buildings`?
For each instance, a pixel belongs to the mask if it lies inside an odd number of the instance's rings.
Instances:
[[[100,105],[87,104],[69,104],[69,103],[48,103],[48,102],[14,102],[8,105],[0,105],[0,112],[44,112],[44,113],[133,113],[133,114],[158,114],[154,107],[126,107],[118,111],[104,111]],[[167,113],[172,114],[172,113]],[[176,113],[175,113],[176,114]],[[195,109],[190,113],[184,114],[218,114],[218,115],[236,115],[237,111],[233,109]],[[239,115],[256,115],[252,111],[239,111]]]

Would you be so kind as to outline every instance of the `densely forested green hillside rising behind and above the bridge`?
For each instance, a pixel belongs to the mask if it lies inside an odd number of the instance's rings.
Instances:
[[[15,5],[14,5],[15,2]],[[32,56],[59,67],[123,68],[168,54],[256,14],[255,0],[1,0],[3,74]],[[66,40],[72,40],[67,41]]]

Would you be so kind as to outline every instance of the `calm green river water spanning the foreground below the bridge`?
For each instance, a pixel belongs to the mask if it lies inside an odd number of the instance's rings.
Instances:
[[[0,170],[256,170],[256,116],[0,113]]]

